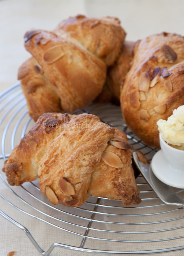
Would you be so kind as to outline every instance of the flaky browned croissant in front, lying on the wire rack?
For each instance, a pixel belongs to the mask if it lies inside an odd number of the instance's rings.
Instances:
[[[39,178],[53,204],[80,206],[89,195],[139,204],[126,134],[92,114],[43,114],[5,161],[10,185]]]

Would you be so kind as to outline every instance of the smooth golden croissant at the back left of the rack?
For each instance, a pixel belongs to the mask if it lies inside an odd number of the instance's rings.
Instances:
[[[32,58],[18,79],[33,120],[46,112],[71,112],[102,91],[109,65],[118,58],[125,31],[117,18],[69,17],[55,30],[32,30],[24,46]]]

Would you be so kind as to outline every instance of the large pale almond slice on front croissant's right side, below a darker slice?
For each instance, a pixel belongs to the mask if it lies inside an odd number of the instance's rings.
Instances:
[[[116,154],[106,151],[102,154],[102,160],[112,166],[115,167],[117,169],[121,169],[123,167],[122,161],[119,158],[119,156],[117,156]]]

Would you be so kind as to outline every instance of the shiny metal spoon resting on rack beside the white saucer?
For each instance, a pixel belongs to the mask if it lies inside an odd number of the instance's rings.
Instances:
[[[151,164],[145,155],[140,151],[133,152],[133,160],[142,173],[145,180],[156,192],[158,197],[165,203],[177,205],[184,208],[184,199],[174,192],[172,187],[161,182],[152,172]]]

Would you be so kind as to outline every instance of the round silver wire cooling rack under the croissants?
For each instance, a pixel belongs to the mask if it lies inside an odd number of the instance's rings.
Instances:
[[[19,83],[4,91],[0,98],[3,131],[0,157],[4,162],[34,122],[28,114]],[[142,151],[149,160],[156,153],[157,149],[145,145],[127,128],[120,107],[92,103],[75,114],[84,112],[95,114],[101,121],[124,131],[134,150]],[[141,175],[136,178],[142,199],[138,206],[123,207],[120,200],[91,196],[77,208],[52,205],[40,192],[38,180],[12,187],[6,182],[5,173],[0,171],[0,176],[10,196],[0,195],[9,208],[20,211],[27,218],[35,218],[34,221],[43,222],[45,228],[50,227],[59,234],[57,241],[44,251],[33,237],[33,230],[28,230],[0,210],[5,219],[26,233],[42,255],[50,255],[55,247],[61,249],[61,255],[62,248],[87,253],[133,255],[183,249],[183,208],[164,204]],[[175,191],[180,195],[183,193],[183,190]],[[20,204],[14,204],[14,197]]]

